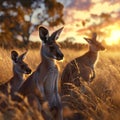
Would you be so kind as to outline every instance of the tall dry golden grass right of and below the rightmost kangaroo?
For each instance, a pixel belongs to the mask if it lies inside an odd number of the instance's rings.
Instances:
[[[77,110],[77,116],[71,119],[79,120],[80,116],[84,116],[85,120],[120,120],[119,52],[118,50],[100,52],[95,69],[96,78],[89,86],[83,83],[84,91],[81,87],[66,84],[69,86],[66,87],[66,91],[70,91],[70,94],[62,97],[63,104],[64,106],[68,104],[75,112]],[[82,53],[75,54],[79,56]]]

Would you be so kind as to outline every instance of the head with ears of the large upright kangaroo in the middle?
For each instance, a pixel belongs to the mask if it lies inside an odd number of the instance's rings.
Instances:
[[[49,35],[49,31],[45,27],[39,27],[39,36],[42,40],[42,54],[47,58],[56,60],[63,59],[64,55],[61,52],[59,45],[56,43],[62,30],[63,27]]]

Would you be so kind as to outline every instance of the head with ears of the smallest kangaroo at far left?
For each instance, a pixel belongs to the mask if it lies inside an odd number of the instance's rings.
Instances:
[[[21,73],[21,74],[30,74],[31,69],[28,67],[28,65],[23,61],[25,58],[27,52],[18,55],[16,51],[11,52],[11,59],[13,60],[13,68],[15,72]]]

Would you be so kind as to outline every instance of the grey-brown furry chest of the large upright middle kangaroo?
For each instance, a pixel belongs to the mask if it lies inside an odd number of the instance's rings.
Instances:
[[[38,69],[38,83],[43,86],[45,97],[51,103],[57,91],[58,68],[54,63],[48,61],[41,63]]]

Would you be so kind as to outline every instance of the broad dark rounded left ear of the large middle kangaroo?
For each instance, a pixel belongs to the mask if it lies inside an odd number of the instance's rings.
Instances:
[[[48,41],[48,38],[49,38],[49,31],[43,27],[43,26],[40,26],[39,27],[39,36],[41,38],[41,40],[46,43]]]

